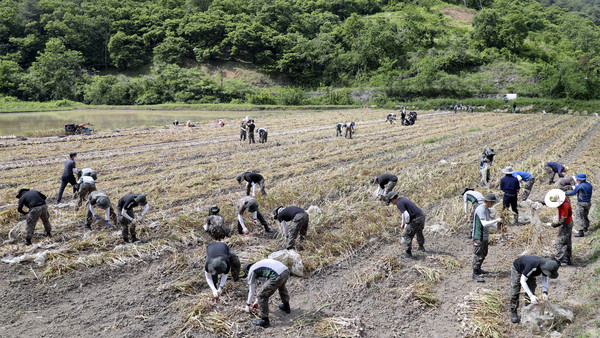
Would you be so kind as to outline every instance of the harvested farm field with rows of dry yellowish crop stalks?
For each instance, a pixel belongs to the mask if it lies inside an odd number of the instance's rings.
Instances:
[[[37,189],[49,197],[54,233],[42,237],[38,224],[32,247],[21,246],[22,239],[0,246],[2,258],[46,251],[43,266],[0,265],[0,336],[528,335],[522,325],[510,324],[508,293],[512,261],[531,248],[532,227],[493,235],[483,266],[492,274],[486,283],[476,283],[460,194],[465,187],[499,194],[500,168],[511,165],[537,177],[530,198],[543,200],[553,188],[544,172],[550,160],[567,163],[570,173],[587,173],[597,185],[600,119],[419,112],[414,126],[402,127],[384,123],[387,113],[272,114],[256,118],[257,128],[269,130],[269,142],[252,145],[239,141],[237,119],[226,120],[224,128],[211,121],[197,123],[198,128],[0,140],[0,206],[16,203],[20,187]],[[356,122],[354,138],[336,138],[335,124],[349,121]],[[479,156],[486,146],[497,154],[491,189],[478,187]],[[74,213],[70,205],[56,205],[71,151],[79,153],[78,169],[98,171],[96,185],[113,204],[130,192],[147,194],[151,209],[138,226],[143,243],[122,245],[119,229],[100,222],[84,231],[83,208]],[[244,280],[229,280],[219,301],[211,299],[204,281],[205,247],[211,242],[202,230],[207,209],[218,205],[235,229],[235,205],[245,195],[235,176],[244,171],[265,176],[268,195],[256,198],[272,228],[280,230],[270,217],[279,205],[316,205],[322,211],[311,214],[303,243],[307,276],[288,282],[292,313],[277,310],[279,297],[272,297],[268,329],[254,327],[253,316],[242,311]],[[427,252],[413,260],[400,258],[400,212],[372,198],[369,179],[386,172],[399,177],[395,191],[426,215]],[[63,202],[70,197],[67,188]],[[555,214],[547,207],[540,211],[544,222]],[[2,240],[9,239],[18,220],[16,207],[0,211]],[[595,214],[592,224],[597,232]],[[249,229],[249,236],[226,240],[242,262],[283,248],[281,235],[270,238],[259,227]],[[531,253],[551,255],[556,230],[542,230],[542,246]],[[559,278],[550,282],[553,302],[577,315],[574,325],[564,328],[567,335],[598,333],[600,317],[590,309],[590,302],[597,306],[600,299],[593,284],[599,264],[591,260],[598,246],[598,236],[573,238],[575,266],[561,267]]]

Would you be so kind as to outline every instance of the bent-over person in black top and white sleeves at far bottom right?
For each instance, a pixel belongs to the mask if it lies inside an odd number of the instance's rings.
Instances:
[[[531,302],[534,305],[539,304],[540,300],[535,296],[537,281],[535,277],[542,275],[542,300],[548,300],[548,277],[556,279],[558,277],[559,264],[550,258],[541,258],[537,256],[523,256],[513,262],[510,272],[510,321],[519,322],[519,293],[521,287],[527,293],[525,296],[525,306]]]

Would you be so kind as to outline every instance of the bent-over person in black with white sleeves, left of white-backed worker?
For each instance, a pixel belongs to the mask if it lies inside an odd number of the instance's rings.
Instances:
[[[225,287],[229,272],[231,272],[233,281],[237,282],[240,276],[240,259],[229,250],[227,244],[216,242],[206,247],[204,275],[214,298],[219,298],[223,294],[223,287]],[[219,276],[221,276],[220,280]]]

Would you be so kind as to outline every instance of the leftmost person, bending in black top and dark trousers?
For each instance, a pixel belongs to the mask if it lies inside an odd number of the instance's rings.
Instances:
[[[35,224],[41,218],[44,224],[44,230],[47,237],[52,237],[52,227],[50,226],[50,215],[48,214],[48,205],[46,196],[37,190],[19,189],[16,196],[19,199],[17,211],[27,215],[27,228],[25,229],[25,242],[23,245],[31,245]],[[27,207],[27,212],[23,211],[23,206]]]

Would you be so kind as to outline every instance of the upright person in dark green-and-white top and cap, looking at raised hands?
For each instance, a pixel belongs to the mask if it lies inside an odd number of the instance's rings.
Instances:
[[[490,228],[498,229],[497,223],[502,221],[500,218],[492,219],[490,214],[490,208],[496,203],[498,203],[498,199],[495,194],[485,195],[483,204],[475,209],[475,217],[473,217],[473,263],[471,267],[473,268],[473,280],[480,283],[485,282],[481,275],[489,273],[482,270],[481,265],[488,253]]]

